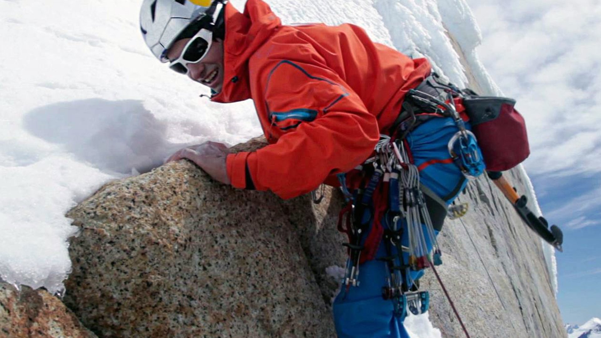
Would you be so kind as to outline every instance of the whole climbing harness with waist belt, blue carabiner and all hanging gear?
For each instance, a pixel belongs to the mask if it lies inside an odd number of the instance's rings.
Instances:
[[[468,210],[466,203],[447,207],[446,200],[459,192],[465,179],[484,172],[477,140],[466,129],[456,110],[455,102],[459,96],[457,88],[440,84],[434,76],[429,76],[416,89],[406,93],[401,113],[391,129],[392,136],[380,135],[374,155],[355,168],[361,175],[359,188],[349,190],[346,174],[338,174],[347,202],[338,218],[338,230],[349,238],[343,243],[349,253],[343,279],[345,292],[349,292],[350,286],[359,286],[359,265],[373,259],[377,250],[377,245],[370,247],[367,243],[373,244],[373,239],[377,238],[377,244],[381,241],[385,249],[385,256],[377,259],[385,262],[388,268],[382,297],[393,302],[394,315],[401,320],[407,313],[418,315],[428,310],[429,292],[418,291],[412,275],[429,267],[434,270],[434,266],[442,264],[436,231],[440,230],[447,215],[457,218]],[[456,164],[464,177],[458,188],[442,198],[420,184],[421,167],[413,164],[406,140],[411,131],[433,117],[451,117],[456,124],[458,131],[447,144],[450,155],[447,163]],[[433,212],[435,222],[429,207],[436,208]],[[439,278],[438,274],[436,277]],[[444,289],[444,285],[442,287]]]

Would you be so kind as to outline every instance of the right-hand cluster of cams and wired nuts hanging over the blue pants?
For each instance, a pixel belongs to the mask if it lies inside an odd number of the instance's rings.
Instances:
[[[404,318],[407,310],[414,315],[426,312],[430,299],[429,292],[416,291],[409,270],[427,268],[432,262],[441,264],[441,250],[436,242],[426,200],[419,189],[419,171],[410,162],[406,144],[382,135],[376,153],[382,162],[386,162],[385,182],[388,178],[389,184],[389,208],[384,218],[387,227],[383,235],[386,256],[379,259],[386,262],[389,277],[382,287],[382,297],[392,300],[395,315]],[[403,229],[407,231],[408,247],[401,245]],[[434,259],[429,256],[428,241],[432,244]],[[404,253],[409,255],[407,261]]]

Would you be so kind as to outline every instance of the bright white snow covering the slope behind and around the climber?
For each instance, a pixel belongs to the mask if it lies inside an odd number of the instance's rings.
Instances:
[[[245,1],[232,2],[242,10]],[[478,82],[500,93],[475,55],[481,35],[464,0],[267,2],[284,23],[355,23],[375,41],[427,55],[463,85],[448,29]],[[152,57],[139,32],[139,4],[63,0],[40,10],[36,1],[0,1],[0,37],[9,47],[0,55],[2,280],[61,292],[70,271],[67,239],[76,233],[67,210],[185,145],[261,134],[251,101],[212,103],[199,97],[208,89]],[[415,337],[441,336],[427,313],[407,318],[407,328]]]

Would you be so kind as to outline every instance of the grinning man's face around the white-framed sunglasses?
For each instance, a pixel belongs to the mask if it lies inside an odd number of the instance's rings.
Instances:
[[[167,52],[169,60],[175,60],[182,54],[182,49],[190,39],[175,41]],[[224,84],[224,46],[220,39],[213,40],[209,52],[198,63],[189,63],[188,76],[194,81],[211,88],[216,93],[221,91]]]

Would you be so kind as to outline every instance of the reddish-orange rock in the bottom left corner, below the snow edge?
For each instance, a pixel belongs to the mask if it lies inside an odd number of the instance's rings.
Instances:
[[[0,337],[94,338],[64,304],[45,290],[0,283]]]

